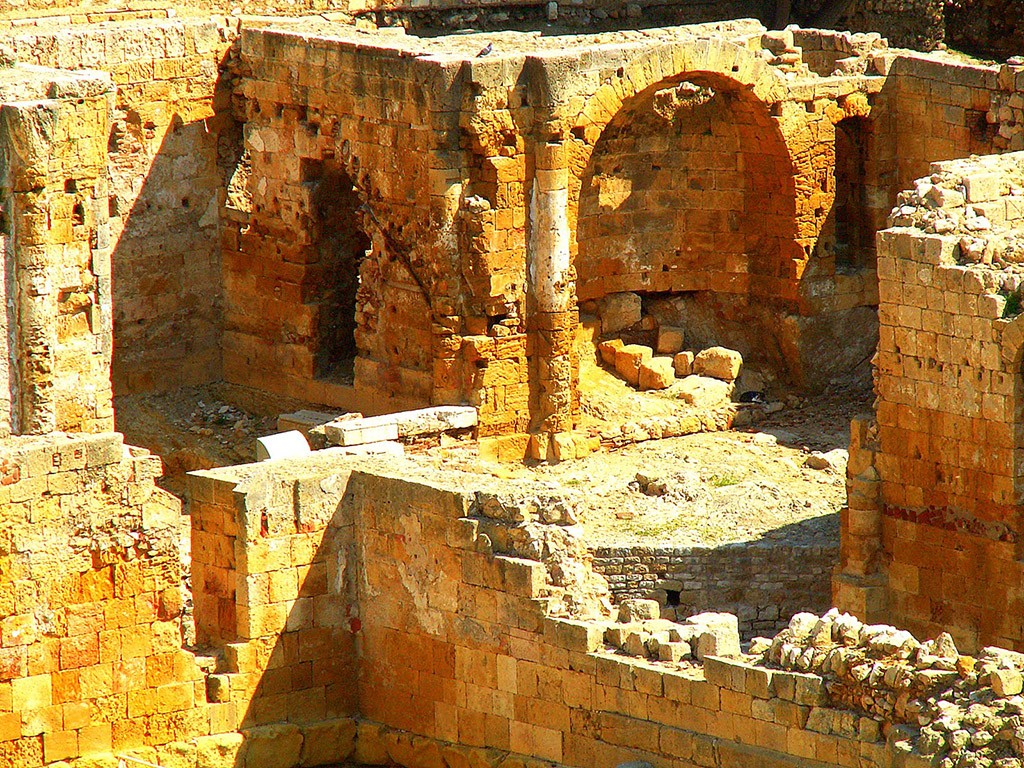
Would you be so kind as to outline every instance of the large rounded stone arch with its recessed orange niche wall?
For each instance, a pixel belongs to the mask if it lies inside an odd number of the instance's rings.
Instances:
[[[567,140],[575,298],[698,297],[693,314],[733,313],[699,341],[745,344],[784,370],[781,317],[809,254],[783,94],[756,53],[710,40],[655,49],[602,84]]]

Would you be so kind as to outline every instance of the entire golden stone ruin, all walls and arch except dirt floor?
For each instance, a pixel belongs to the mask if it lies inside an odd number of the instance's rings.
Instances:
[[[1019,60],[151,5],[0,22],[0,764],[1024,764]],[[380,447],[728,429],[730,350],[873,364],[838,608],[771,638],[613,606],[578,498]],[[587,431],[599,355],[729,390]],[[369,416],[182,516],[114,398],[211,381]]]

